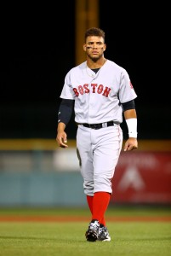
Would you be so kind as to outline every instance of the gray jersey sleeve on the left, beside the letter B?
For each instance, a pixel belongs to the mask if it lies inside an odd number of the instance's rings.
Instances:
[[[65,83],[60,94],[60,98],[74,100],[75,94],[71,86],[71,71],[66,74]]]

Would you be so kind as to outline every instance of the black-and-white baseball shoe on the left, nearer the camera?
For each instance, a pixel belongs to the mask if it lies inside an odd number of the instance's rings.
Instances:
[[[85,233],[87,241],[96,241],[100,230],[100,223],[97,219],[92,219]]]

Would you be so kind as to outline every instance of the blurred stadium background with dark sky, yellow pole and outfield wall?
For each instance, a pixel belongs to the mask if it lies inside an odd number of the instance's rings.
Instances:
[[[167,55],[167,20],[151,16],[149,6],[134,9],[130,3],[113,9],[110,0],[65,1],[57,9],[4,6],[0,207],[86,204],[73,116],[66,129],[70,147],[58,148],[55,137],[64,77],[84,60],[83,34],[90,26],[105,30],[106,58],[128,70],[138,94],[139,149],[122,152],[111,205],[171,204],[171,109],[164,65],[158,64]],[[125,139],[124,122],[122,128]]]

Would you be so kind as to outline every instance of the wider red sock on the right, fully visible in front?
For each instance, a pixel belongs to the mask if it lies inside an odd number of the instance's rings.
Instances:
[[[98,219],[100,224],[105,225],[105,211],[109,205],[111,194],[108,192],[94,193],[93,216],[92,219]]]

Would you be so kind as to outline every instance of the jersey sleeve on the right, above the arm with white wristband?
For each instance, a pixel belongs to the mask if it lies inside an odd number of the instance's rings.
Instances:
[[[119,100],[121,103],[129,102],[134,100],[137,97],[133,84],[131,83],[128,73],[123,69],[121,73],[121,82],[119,90]]]

